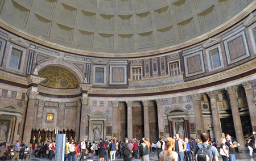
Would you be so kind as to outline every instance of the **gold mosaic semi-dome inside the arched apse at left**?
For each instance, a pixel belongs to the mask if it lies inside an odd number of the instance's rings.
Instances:
[[[63,67],[46,67],[39,71],[39,77],[46,78],[40,83],[41,86],[49,88],[71,89],[77,88],[78,82],[71,71]]]

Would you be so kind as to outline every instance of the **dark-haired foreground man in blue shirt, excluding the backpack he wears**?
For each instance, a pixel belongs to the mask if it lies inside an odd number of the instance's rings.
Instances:
[[[208,133],[201,133],[200,137],[201,137],[202,143],[196,146],[195,153],[194,153],[195,156],[197,154],[197,151],[199,151],[200,148],[203,149],[203,147],[205,147],[205,149],[207,149],[207,147],[210,146],[209,145],[210,138]],[[216,147],[214,146],[208,147],[208,151],[209,151],[209,158],[211,160],[218,161],[218,151]]]

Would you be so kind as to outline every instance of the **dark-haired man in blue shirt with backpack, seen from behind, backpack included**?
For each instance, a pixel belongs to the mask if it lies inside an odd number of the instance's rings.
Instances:
[[[216,147],[208,144],[210,139],[208,133],[201,133],[200,137],[202,143],[197,145],[194,151],[196,161],[218,161],[218,151]]]

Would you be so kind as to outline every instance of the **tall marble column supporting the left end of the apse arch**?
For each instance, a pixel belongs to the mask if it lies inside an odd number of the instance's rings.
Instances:
[[[30,137],[31,137],[31,130],[33,121],[35,118],[35,98],[39,94],[36,91],[28,91],[28,106],[27,106],[27,114],[26,114],[26,121],[24,126],[24,133],[23,133],[23,140],[27,145],[30,144]]]

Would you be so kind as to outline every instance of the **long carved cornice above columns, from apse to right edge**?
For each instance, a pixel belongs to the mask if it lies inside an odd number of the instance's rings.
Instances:
[[[222,71],[221,73],[209,75],[207,77],[194,79],[192,81],[170,84],[167,86],[158,86],[158,87],[147,87],[147,88],[119,88],[119,89],[104,89],[104,88],[90,88],[88,94],[109,94],[109,95],[123,95],[123,94],[148,94],[154,92],[164,92],[164,91],[172,91],[179,90],[183,88],[201,86],[203,84],[208,84],[212,82],[218,82],[222,79],[234,77],[240,75],[242,73],[246,73],[247,71],[256,69],[256,59],[247,62],[243,65],[234,67],[229,70]]]

